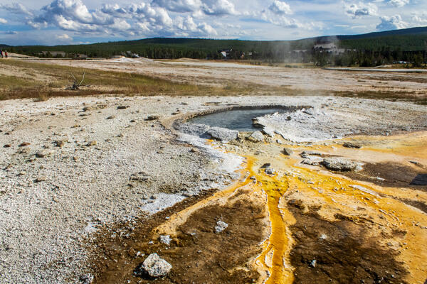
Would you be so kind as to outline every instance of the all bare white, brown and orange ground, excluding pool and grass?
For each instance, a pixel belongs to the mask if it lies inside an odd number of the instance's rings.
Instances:
[[[427,280],[427,109],[413,103],[427,97],[426,73],[46,62],[258,87],[231,97],[2,101],[2,283],[85,283],[89,273],[93,283]],[[19,68],[1,74],[19,77],[26,72]],[[290,122],[280,115],[259,119],[265,125],[259,143],[247,140],[251,133],[208,141],[174,124],[204,111],[261,105],[310,108],[291,111]],[[284,147],[292,153],[285,155]],[[360,168],[343,173],[307,165],[303,151],[353,160]],[[228,227],[216,233],[219,220]],[[159,241],[164,235],[171,244]],[[150,253],[172,264],[169,275],[135,273]]]

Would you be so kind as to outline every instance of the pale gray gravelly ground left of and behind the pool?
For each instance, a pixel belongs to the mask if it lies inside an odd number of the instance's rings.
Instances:
[[[82,283],[80,276],[90,273],[83,242],[100,226],[158,212],[201,190],[226,187],[237,178],[234,170],[241,158],[218,152],[197,136],[176,136],[161,124],[176,108],[183,113],[206,111],[212,102],[218,109],[260,102],[311,105],[320,117],[325,116],[323,122],[308,119],[311,114],[298,115],[300,126],[317,138],[329,138],[331,132],[318,136],[317,127],[341,128],[339,133],[427,128],[426,107],[337,97],[1,102],[1,283]],[[117,109],[120,106],[129,107]],[[335,111],[339,115],[334,116]],[[147,121],[149,116],[159,116],[159,121]],[[334,119],[337,122],[329,124]],[[283,124],[275,125],[284,131]],[[295,124],[296,129],[300,126]],[[199,151],[192,151],[194,147]]]

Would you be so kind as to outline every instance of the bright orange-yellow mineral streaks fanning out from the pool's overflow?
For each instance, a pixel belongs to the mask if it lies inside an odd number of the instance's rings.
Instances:
[[[392,160],[401,161],[416,157],[423,162],[427,160],[427,139],[425,138],[427,138],[427,132],[410,133],[407,136],[361,136],[353,138],[353,140],[369,141],[370,145],[358,150],[341,146],[332,148],[332,145],[314,146],[307,149],[319,149],[323,153],[339,153],[347,158],[357,158],[357,156],[362,158],[364,155],[369,155],[381,160],[381,158],[399,156],[399,159]],[[263,146],[268,147],[268,145]],[[300,150],[302,148],[306,147],[299,147]],[[274,148],[270,148],[270,151],[275,152]],[[246,156],[246,165],[241,170],[243,178],[227,187],[226,190],[217,192],[214,196],[172,215],[168,222],[157,228],[157,231],[174,236],[176,228],[180,224],[184,224],[191,213],[211,204],[226,202],[233,192],[242,187],[250,187],[253,192],[264,192],[267,196],[266,206],[268,206],[271,234],[263,243],[263,252],[256,258],[255,263],[261,270],[261,275],[265,275],[263,271],[268,271],[263,283],[292,283],[294,280],[292,267],[287,264],[292,249],[292,236],[288,231],[288,226],[295,224],[295,219],[281,200],[285,195],[299,192],[298,194],[305,198],[305,202],[308,204],[320,202],[322,204],[320,214],[326,219],[334,220],[334,213],[342,213],[357,219],[361,215],[354,208],[360,206],[366,208],[367,212],[371,214],[374,224],[372,234],[381,234],[381,231],[391,229],[408,231],[403,239],[397,240],[400,246],[403,246],[403,249],[399,249],[401,251],[399,259],[405,261],[406,268],[410,272],[409,283],[417,283],[426,278],[427,271],[423,263],[427,259],[427,247],[421,244],[427,239],[427,230],[423,229],[423,226],[427,226],[427,216],[418,209],[408,207],[393,198],[401,196],[404,192],[415,195],[411,190],[379,187],[368,182],[351,180],[336,173],[319,170],[319,168],[302,166],[299,164],[299,158],[288,158],[277,155],[277,153],[269,153],[265,156],[252,156],[251,153],[239,153],[239,155]],[[266,175],[264,170],[255,170],[255,166],[258,167],[260,163],[265,163],[271,158],[274,162],[273,168],[289,173],[270,176]],[[255,176],[258,183],[255,184],[248,178],[252,175]],[[362,185],[373,194],[358,190],[352,187],[353,185]],[[381,193],[382,196],[377,195],[376,192]],[[420,197],[427,197],[425,192],[417,191],[416,193]],[[421,222],[421,225],[414,226],[414,222]],[[385,239],[383,241],[386,242]]]

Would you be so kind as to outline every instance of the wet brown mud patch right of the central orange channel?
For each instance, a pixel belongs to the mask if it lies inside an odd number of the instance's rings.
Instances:
[[[290,226],[294,283],[407,283],[408,272],[395,259],[398,253],[365,237],[369,221],[340,215],[331,222],[317,214],[320,208],[295,200],[288,206],[297,220]]]

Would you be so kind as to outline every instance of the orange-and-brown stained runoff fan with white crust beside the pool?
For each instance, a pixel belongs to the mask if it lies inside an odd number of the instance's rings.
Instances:
[[[96,283],[424,283],[427,132],[385,133],[364,109],[353,119],[343,109],[234,121],[263,133],[176,125],[180,142],[233,178],[132,224],[129,237],[106,232]],[[233,111],[215,117],[231,123]],[[362,129],[370,135],[347,134]],[[152,253],[172,266],[166,277],[138,274]]]

